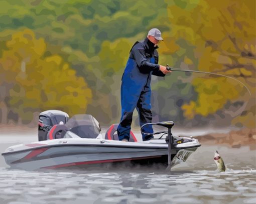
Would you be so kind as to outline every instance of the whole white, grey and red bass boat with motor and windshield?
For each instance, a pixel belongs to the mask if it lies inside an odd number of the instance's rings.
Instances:
[[[41,112],[38,141],[10,146],[2,153],[11,168],[35,170],[41,168],[88,168],[95,164],[138,163],[140,165],[174,166],[187,160],[201,144],[192,137],[172,135],[173,121],[144,124],[165,128],[148,141],[139,141],[131,131],[129,141],[119,141],[118,124],[112,124],[103,135],[99,122],[89,114],[69,119],[60,110]],[[156,136],[154,136],[156,137]]]

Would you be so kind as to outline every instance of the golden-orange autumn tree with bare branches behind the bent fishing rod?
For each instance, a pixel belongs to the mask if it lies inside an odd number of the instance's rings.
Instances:
[[[242,113],[240,119],[235,118],[234,121],[237,123],[250,120],[252,122],[242,123],[254,126],[255,2],[175,2],[177,3],[168,7],[173,22],[172,32],[176,37],[195,45],[198,69],[233,76],[247,84],[252,92],[250,96],[244,87],[225,77],[196,77],[192,84],[198,97],[182,106],[184,115],[188,118],[193,118],[196,114],[206,116],[226,109],[229,102],[234,104],[236,101],[242,101],[241,104],[244,104],[248,101],[245,111],[242,112],[240,108],[241,111],[237,113]],[[229,111],[226,112],[229,114]]]

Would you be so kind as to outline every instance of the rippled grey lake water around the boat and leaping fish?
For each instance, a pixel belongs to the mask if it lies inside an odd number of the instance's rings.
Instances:
[[[33,136],[34,135],[34,136]],[[36,141],[34,132],[0,135],[0,152]],[[218,172],[218,150],[227,170]],[[0,203],[256,203],[256,151],[202,145],[172,171],[154,168],[24,171],[0,156]]]

